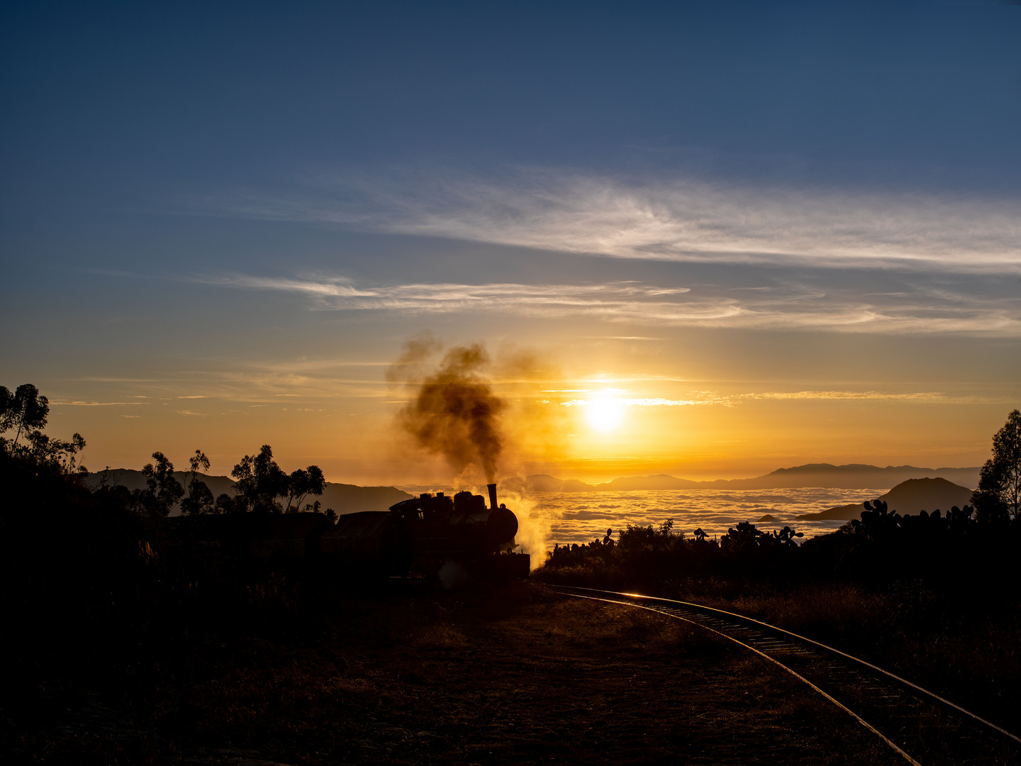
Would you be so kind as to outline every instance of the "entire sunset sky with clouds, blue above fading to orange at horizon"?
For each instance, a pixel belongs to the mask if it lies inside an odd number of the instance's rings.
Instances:
[[[636,417],[564,470],[976,465],[1018,404],[1016,4],[2,14],[2,382],[93,463],[389,478],[382,371],[423,330],[761,426],[673,408],[686,439]]]

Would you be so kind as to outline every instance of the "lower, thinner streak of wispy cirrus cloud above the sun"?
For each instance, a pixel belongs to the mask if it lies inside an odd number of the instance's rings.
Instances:
[[[369,286],[336,277],[228,275],[195,280],[240,289],[300,293],[309,298],[312,307],[329,310],[480,310],[540,319],[584,317],[647,326],[1021,335],[1021,300],[945,285],[922,286],[910,293],[862,294],[798,284],[742,290],[725,286],[660,287],[632,281]]]

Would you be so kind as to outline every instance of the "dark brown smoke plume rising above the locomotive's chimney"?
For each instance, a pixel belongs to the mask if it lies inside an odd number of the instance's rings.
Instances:
[[[500,414],[506,402],[482,375],[489,354],[477,343],[457,346],[446,352],[435,371],[423,374],[423,363],[438,348],[432,336],[410,340],[388,371],[389,380],[403,382],[414,391],[414,398],[397,414],[397,424],[423,449],[442,454],[456,472],[474,464],[482,468],[486,481],[494,482],[503,449]]]

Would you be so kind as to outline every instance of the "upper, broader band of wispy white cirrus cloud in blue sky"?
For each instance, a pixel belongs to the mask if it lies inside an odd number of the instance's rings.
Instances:
[[[445,169],[305,179],[192,209],[622,258],[949,272],[1021,269],[1021,200],[696,180],[634,183],[550,170]]]

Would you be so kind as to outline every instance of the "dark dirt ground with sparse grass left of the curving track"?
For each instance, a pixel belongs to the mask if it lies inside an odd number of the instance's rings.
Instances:
[[[8,752],[34,763],[903,763],[745,650],[536,583],[395,585],[299,621],[190,636],[134,691],[80,689],[42,727],[8,719]]]

